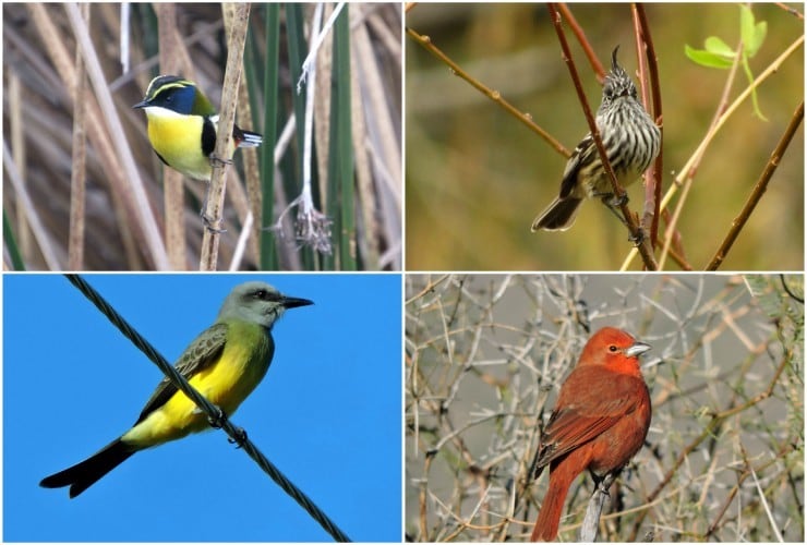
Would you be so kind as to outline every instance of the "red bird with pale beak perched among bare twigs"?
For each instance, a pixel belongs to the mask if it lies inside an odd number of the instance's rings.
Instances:
[[[650,428],[650,395],[639,355],[650,350],[614,327],[597,331],[561,387],[541,436],[538,469],[550,467],[550,487],[531,541],[557,537],[569,486],[585,470],[595,480],[618,472],[639,451]]]

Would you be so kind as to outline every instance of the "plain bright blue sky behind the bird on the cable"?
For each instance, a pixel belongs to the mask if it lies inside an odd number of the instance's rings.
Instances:
[[[86,275],[173,362],[238,283],[313,306],[274,328],[232,416],[353,541],[400,541],[398,275]],[[3,541],[332,541],[224,432],[137,452],[81,496],[39,481],[125,432],[161,378],[62,276],[3,275]]]

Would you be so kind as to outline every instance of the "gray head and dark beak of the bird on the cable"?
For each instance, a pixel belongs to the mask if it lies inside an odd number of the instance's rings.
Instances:
[[[272,329],[286,308],[314,304],[308,299],[289,298],[265,282],[246,282],[233,288],[218,313],[218,322],[242,319]]]

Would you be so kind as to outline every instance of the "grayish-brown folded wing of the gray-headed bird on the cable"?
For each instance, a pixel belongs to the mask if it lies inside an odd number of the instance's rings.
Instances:
[[[227,324],[215,324],[205,329],[193,342],[182,352],[174,364],[177,371],[190,379],[193,375],[216,362],[225,348],[227,338]],[[178,388],[168,379],[160,380],[152,397],[146,401],[146,405],[140,413],[137,425],[143,422],[152,412],[162,407],[171,397],[177,393]]]

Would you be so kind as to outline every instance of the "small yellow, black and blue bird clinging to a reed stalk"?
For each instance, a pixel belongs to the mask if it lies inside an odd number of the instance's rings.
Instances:
[[[148,141],[162,162],[194,180],[210,181],[218,114],[196,84],[176,75],[157,76],[132,108],[145,110]],[[228,156],[237,147],[260,146],[263,136],[233,125],[232,141]]]

